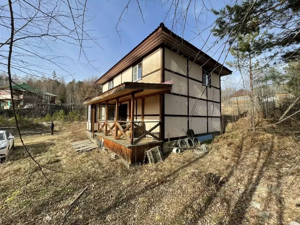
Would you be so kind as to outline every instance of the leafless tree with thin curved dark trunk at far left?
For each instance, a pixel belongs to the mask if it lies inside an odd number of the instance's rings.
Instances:
[[[48,71],[58,67],[71,75],[60,62],[65,56],[57,53],[61,44],[78,47],[79,58],[84,57],[91,65],[85,54],[85,43],[98,43],[97,38],[85,29],[86,22],[91,19],[86,16],[86,6],[87,0],[8,0],[7,4],[0,6],[0,26],[7,30],[0,43],[0,69],[8,74],[13,114],[22,145],[43,174],[43,167],[53,169],[37,162],[22,140],[13,104],[12,85],[16,83],[12,71],[51,80],[52,74]],[[44,176],[48,179],[45,174]],[[49,179],[48,181],[52,183]]]

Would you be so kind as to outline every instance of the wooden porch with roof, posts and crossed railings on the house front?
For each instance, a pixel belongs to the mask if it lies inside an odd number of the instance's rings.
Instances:
[[[86,101],[91,104],[91,131],[99,146],[129,164],[144,161],[146,150],[163,144],[163,94],[171,88],[125,82]]]

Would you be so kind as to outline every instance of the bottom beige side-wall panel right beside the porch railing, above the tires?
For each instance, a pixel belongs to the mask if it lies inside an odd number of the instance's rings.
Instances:
[[[186,131],[187,117],[165,116],[165,138],[186,136]]]

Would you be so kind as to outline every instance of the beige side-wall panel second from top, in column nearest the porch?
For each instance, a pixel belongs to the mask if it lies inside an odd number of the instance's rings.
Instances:
[[[187,77],[165,71],[165,81],[173,80],[172,92],[187,95]]]

